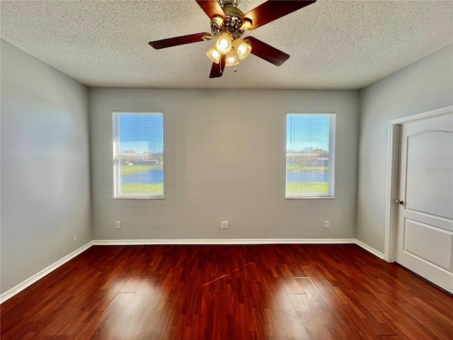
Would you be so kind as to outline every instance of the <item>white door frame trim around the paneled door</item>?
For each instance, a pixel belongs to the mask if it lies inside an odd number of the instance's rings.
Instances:
[[[396,259],[396,231],[398,221],[397,210],[394,203],[398,197],[398,176],[399,176],[399,147],[401,125],[446,115],[453,112],[453,105],[436,108],[435,110],[408,115],[403,118],[390,120],[389,122],[389,153],[387,159],[387,191],[385,210],[385,237],[384,237],[384,260],[394,262]]]

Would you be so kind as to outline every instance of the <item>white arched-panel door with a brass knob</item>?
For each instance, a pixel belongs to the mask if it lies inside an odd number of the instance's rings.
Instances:
[[[453,114],[401,125],[396,262],[453,293]]]

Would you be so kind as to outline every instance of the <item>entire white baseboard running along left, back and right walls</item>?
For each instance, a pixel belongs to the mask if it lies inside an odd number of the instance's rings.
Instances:
[[[67,261],[74,259],[74,257],[86,251],[86,249],[91,246],[130,246],[146,244],[357,244],[357,246],[369,251],[374,256],[379,257],[379,259],[384,259],[384,254],[358,239],[96,239],[81,246],[79,249],[71,252],[71,254],[64,256],[64,258],[52,263],[47,268],[42,269],[39,273],[36,273],[27,280],[1,294],[0,304],[17,293],[20,293],[28,286],[33,285],[33,283],[45,277],[47,274],[55,271],[55,269],[62,266],[64,263],[67,263]]]

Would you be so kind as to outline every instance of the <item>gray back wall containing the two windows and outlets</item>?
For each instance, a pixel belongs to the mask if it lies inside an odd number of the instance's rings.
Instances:
[[[90,89],[89,98],[95,239],[355,236],[358,91]],[[114,200],[112,112],[153,110],[164,112],[165,199]],[[285,199],[288,111],[337,113],[335,199]]]

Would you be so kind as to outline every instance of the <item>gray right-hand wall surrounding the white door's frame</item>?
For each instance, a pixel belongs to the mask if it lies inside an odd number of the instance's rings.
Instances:
[[[361,91],[356,238],[384,252],[389,121],[453,103],[453,44]]]

